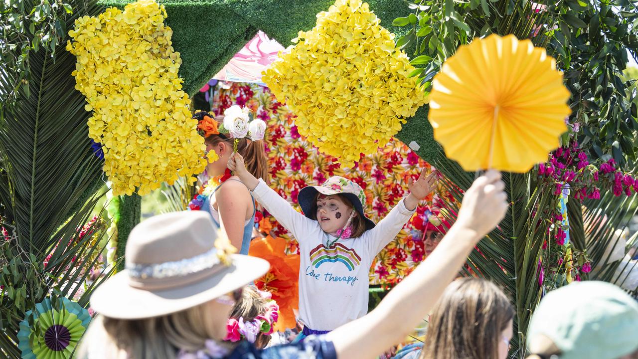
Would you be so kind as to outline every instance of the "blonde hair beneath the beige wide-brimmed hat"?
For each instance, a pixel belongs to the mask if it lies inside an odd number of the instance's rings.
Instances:
[[[205,340],[221,345],[225,331],[215,325],[209,303],[147,319],[98,316],[80,344],[82,359],[175,359],[179,350],[197,351]],[[228,347],[232,348],[231,346]]]

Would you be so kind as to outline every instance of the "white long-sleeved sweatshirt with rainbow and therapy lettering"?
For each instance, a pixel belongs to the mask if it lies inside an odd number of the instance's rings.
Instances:
[[[253,196],[299,242],[299,319],[314,330],[334,330],[367,313],[368,273],[376,254],[394,240],[415,211],[404,200],[359,238],[325,233],[319,222],[295,211],[262,179]]]

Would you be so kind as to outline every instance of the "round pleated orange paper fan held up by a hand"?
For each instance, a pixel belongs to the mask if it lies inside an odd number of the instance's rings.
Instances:
[[[569,97],[545,49],[494,34],[445,61],[433,80],[429,121],[464,170],[527,172],[559,146]]]

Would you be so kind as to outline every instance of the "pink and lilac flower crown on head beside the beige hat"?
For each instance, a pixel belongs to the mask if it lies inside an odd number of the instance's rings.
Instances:
[[[244,317],[238,319],[229,318],[226,323],[226,337],[224,340],[231,342],[239,342],[246,339],[254,343],[259,333],[271,335],[274,331],[274,325],[279,318],[279,305],[274,300],[267,303],[265,314],[256,316],[253,321],[244,321]]]

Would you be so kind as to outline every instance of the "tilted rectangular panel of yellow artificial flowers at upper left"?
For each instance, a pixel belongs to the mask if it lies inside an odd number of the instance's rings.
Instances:
[[[177,75],[182,61],[153,0],[80,17],[66,49],[77,56],[75,88],[87,98],[89,137],[102,144],[114,194],[140,195],[204,171],[206,146]]]

